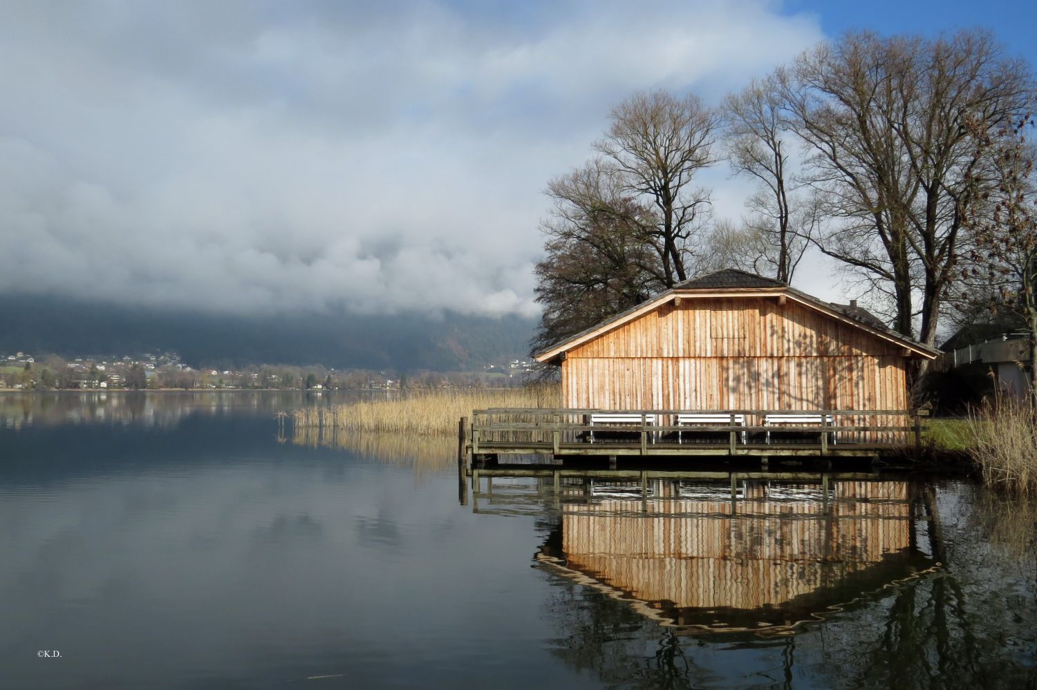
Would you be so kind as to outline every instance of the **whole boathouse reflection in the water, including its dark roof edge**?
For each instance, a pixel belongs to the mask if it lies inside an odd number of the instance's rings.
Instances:
[[[596,487],[595,487],[596,488]],[[667,625],[785,628],[935,564],[932,505],[903,481],[658,481],[565,504],[538,559]],[[923,537],[920,544],[919,537]]]

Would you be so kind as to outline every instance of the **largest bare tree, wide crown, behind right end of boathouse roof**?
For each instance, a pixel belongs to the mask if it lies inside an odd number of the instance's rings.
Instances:
[[[964,220],[982,198],[974,180],[990,165],[966,120],[1011,121],[1033,93],[1029,66],[983,31],[863,32],[808,52],[775,79],[831,221],[817,246],[892,298],[898,330],[914,335],[920,314],[918,338],[932,345]]]

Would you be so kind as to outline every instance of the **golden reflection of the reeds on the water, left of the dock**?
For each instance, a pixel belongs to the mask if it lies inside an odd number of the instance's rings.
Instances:
[[[377,434],[317,427],[291,429],[291,442],[309,448],[348,451],[365,458],[418,469],[455,468],[457,440],[451,436]]]

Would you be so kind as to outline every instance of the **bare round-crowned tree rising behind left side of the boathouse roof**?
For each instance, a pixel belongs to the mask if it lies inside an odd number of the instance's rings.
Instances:
[[[622,188],[654,206],[653,234],[662,248],[665,286],[688,280],[692,236],[708,218],[709,195],[693,188],[713,163],[718,116],[695,95],[637,93],[616,106],[606,138],[594,145],[611,161]]]

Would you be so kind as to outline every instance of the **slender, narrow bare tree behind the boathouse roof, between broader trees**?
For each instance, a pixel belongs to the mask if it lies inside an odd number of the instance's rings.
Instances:
[[[813,235],[818,206],[795,194],[782,104],[780,84],[770,77],[729,94],[722,112],[731,168],[760,183],[747,201],[750,214],[745,219],[747,230],[759,240],[756,272],[789,283]]]

